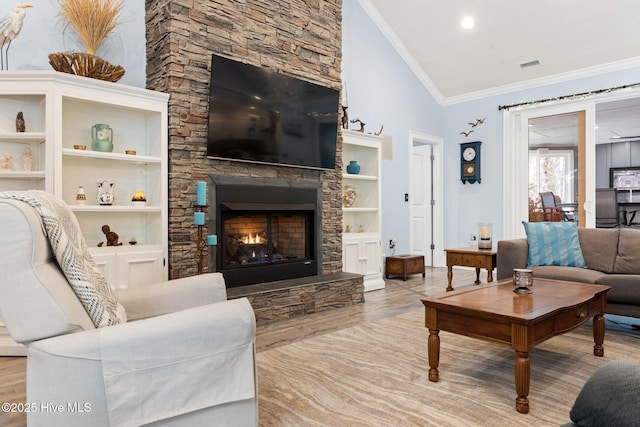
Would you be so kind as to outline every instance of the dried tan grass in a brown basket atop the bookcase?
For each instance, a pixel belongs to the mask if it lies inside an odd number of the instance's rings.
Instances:
[[[86,53],[58,52],[49,55],[56,71],[95,79],[118,81],[124,68],[95,56],[109,33],[118,25],[124,0],[58,0],[58,11],[65,30],[78,35]]]

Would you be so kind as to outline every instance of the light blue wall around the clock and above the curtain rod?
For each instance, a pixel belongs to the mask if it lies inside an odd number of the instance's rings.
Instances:
[[[494,241],[502,238],[503,119],[500,105],[530,102],[599,89],[640,83],[640,68],[602,74],[535,89],[469,101],[443,108],[445,139],[445,246],[466,246],[469,235],[477,233],[477,223],[494,224]],[[467,122],[486,117],[469,137],[460,135]],[[463,185],[459,180],[459,143],[482,141],[482,183]]]

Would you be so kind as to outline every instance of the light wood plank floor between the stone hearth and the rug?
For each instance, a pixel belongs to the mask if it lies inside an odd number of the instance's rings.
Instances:
[[[472,286],[475,272],[455,269],[456,289]],[[481,274],[486,280],[486,272]],[[420,298],[444,293],[447,287],[446,268],[427,268],[426,277],[410,276],[386,280],[386,288],[367,292],[365,302],[351,307],[323,311],[311,315],[259,325],[256,331],[256,351],[261,352],[309,337],[337,331],[360,323],[394,316],[420,308]],[[0,403],[26,401],[26,358],[0,357]],[[24,427],[24,414],[0,413],[0,427]]]

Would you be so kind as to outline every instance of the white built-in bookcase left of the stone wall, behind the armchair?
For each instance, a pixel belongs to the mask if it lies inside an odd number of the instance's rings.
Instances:
[[[38,189],[64,200],[100,255],[99,268],[120,288],[168,277],[168,100],[161,92],[55,71],[5,71],[0,79],[0,155],[13,156],[12,169],[0,172],[0,190]],[[28,132],[14,132],[17,112]],[[112,128],[112,152],[91,150],[98,123]],[[112,206],[95,198],[96,183],[104,181],[115,184]],[[84,205],[77,204],[79,187],[91,193]],[[131,202],[136,190],[145,192],[144,206]],[[105,242],[105,225],[123,246],[93,248]],[[135,246],[128,244],[132,237]]]

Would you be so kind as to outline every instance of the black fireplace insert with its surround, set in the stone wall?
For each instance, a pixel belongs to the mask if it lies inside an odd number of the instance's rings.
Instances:
[[[213,180],[210,227],[218,235],[216,265],[227,287],[319,274],[317,185],[221,180]]]

